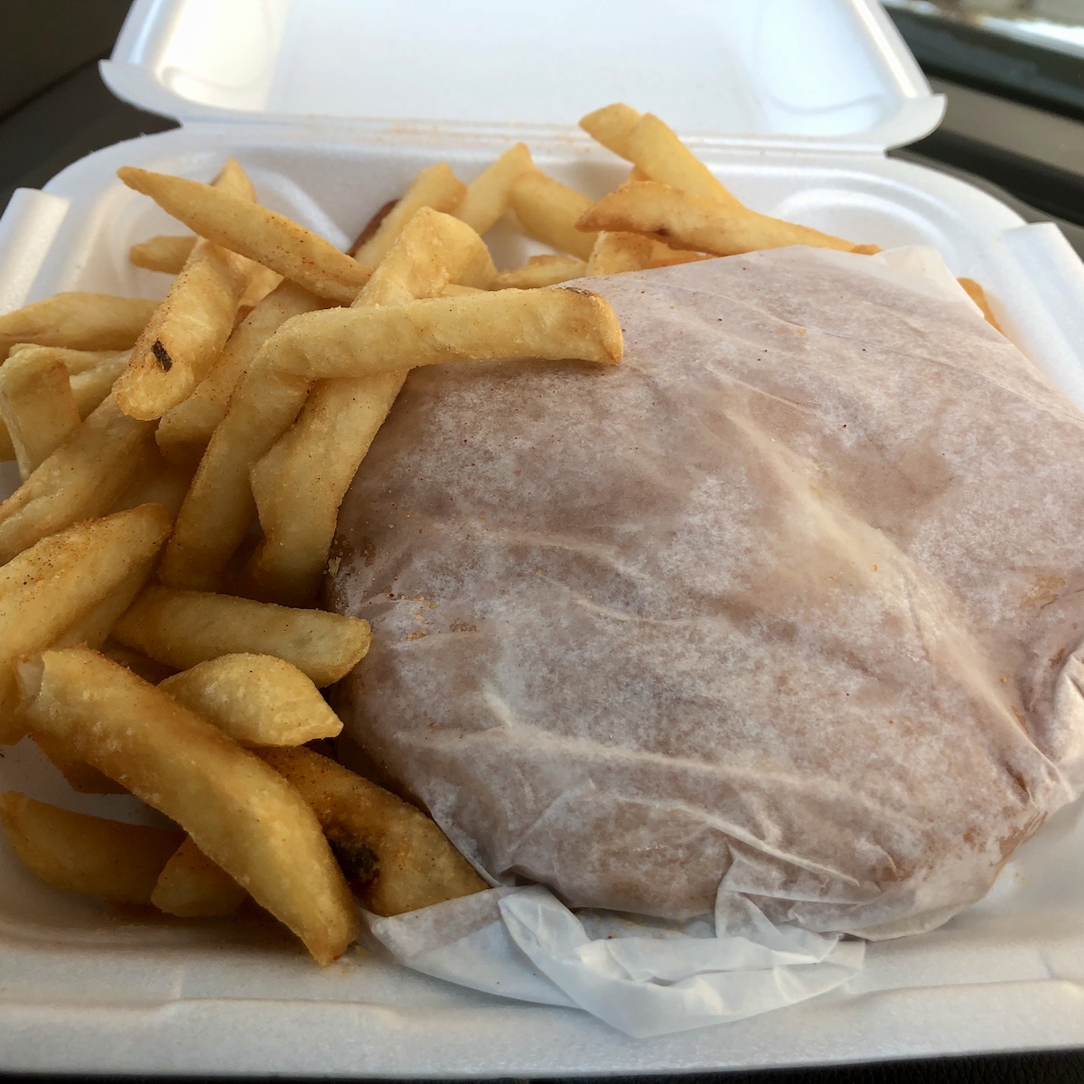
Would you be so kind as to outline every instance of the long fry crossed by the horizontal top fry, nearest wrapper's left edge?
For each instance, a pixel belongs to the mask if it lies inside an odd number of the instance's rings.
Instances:
[[[469,225],[423,207],[353,308],[435,297],[449,281],[488,285],[494,274],[489,250]],[[315,597],[338,506],[405,377],[399,371],[318,382],[293,428],[253,467],[264,540],[248,577],[260,597],[294,606]]]

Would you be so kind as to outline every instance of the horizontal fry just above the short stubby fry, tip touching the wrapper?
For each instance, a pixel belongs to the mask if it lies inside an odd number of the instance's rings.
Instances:
[[[220,655],[274,655],[323,688],[369,650],[369,622],[324,610],[151,585],[116,623],[121,644],[188,670]]]

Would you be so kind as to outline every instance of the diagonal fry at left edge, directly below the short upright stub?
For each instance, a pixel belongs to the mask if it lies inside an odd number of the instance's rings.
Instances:
[[[154,426],[105,399],[64,444],[0,504],[0,563],[116,504],[156,455]]]

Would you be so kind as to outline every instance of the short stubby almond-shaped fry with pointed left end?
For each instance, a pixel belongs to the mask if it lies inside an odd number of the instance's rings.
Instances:
[[[158,687],[242,745],[304,745],[343,730],[317,686],[273,655],[221,655]]]

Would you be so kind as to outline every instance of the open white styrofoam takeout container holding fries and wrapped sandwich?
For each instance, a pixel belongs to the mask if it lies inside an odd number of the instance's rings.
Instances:
[[[520,139],[541,168],[601,194],[628,166],[575,121],[623,100],[667,119],[758,210],[882,247],[935,245],[1084,406],[1084,266],[1054,225],[886,157],[931,131],[943,103],[875,0],[137,0],[102,75],[182,127],[15,194],[0,311],[60,289],[164,292],[127,253],[177,224],[116,180],[120,165],[208,179],[233,155],[263,202],[346,245],[421,167],[443,158],[469,180]],[[524,256],[512,232],[494,236],[499,260]],[[131,799],[73,795],[25,743],[4,750],[0,788],[139,816]],[[1082,849],[1084,814],[1063,811],[986,901],[870,945],[844,991],[636,1041],[360,950],[321,970],[270,927],[107,912],[37,882],[3,844],[0,1068],[525,1076],[1084,1045]]]

